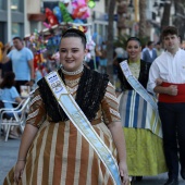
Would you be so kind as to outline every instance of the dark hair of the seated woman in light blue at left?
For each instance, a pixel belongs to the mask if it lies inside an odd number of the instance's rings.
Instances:
[[[0,84],[0,88],[11,88],[15,84],[15,74],[13,72],[7,72],[2,83]]]

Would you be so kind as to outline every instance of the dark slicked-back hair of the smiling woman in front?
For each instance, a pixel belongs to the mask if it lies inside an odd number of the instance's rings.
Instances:
[[[78,37],[78,38],[81,38],[82,42],[84,45],[84,48],[86,48],[87,39],[86,39],[85,34],[82,30],[76,29],[76,28],[69,28],[62,34],[61,40],[62,40],[62,38],[66,38],[66,37]]]

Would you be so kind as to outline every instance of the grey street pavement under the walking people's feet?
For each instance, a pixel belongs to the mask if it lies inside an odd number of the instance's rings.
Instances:
[[[9,139],[0,136],[0,185],[10,169],[15,164],[21,139]],[[168,178],[168,174],[163,173],[157,176],[144,176],[141,182],[134,182],[134,185],[163,185]],[[185,181],[180,177],[180,184],[185,185]]]

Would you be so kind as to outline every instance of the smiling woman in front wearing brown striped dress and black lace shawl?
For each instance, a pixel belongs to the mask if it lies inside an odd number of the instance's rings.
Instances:
[[[83,65],[85,47],[83,32],[75,28],[64,32],[60,44],[62,67],[58,74],[118,160],[121,184],[127,185],[125,143],[115,90],[108,75]],[[17,162],[4,185],[13,182],[18,185],[115,184],[89,141],[60,107],[46,78],[38,82],[34,92]]]

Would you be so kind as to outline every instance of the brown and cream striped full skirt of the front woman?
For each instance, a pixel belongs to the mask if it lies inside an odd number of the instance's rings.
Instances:
[[[104,123],[94,128],[116,158]],[[14,168],[3,185],[13,185],[13,174]],[[18,185],[113,185],[113,181],[92,147],[70,121],[46,121],[29,148]]]

